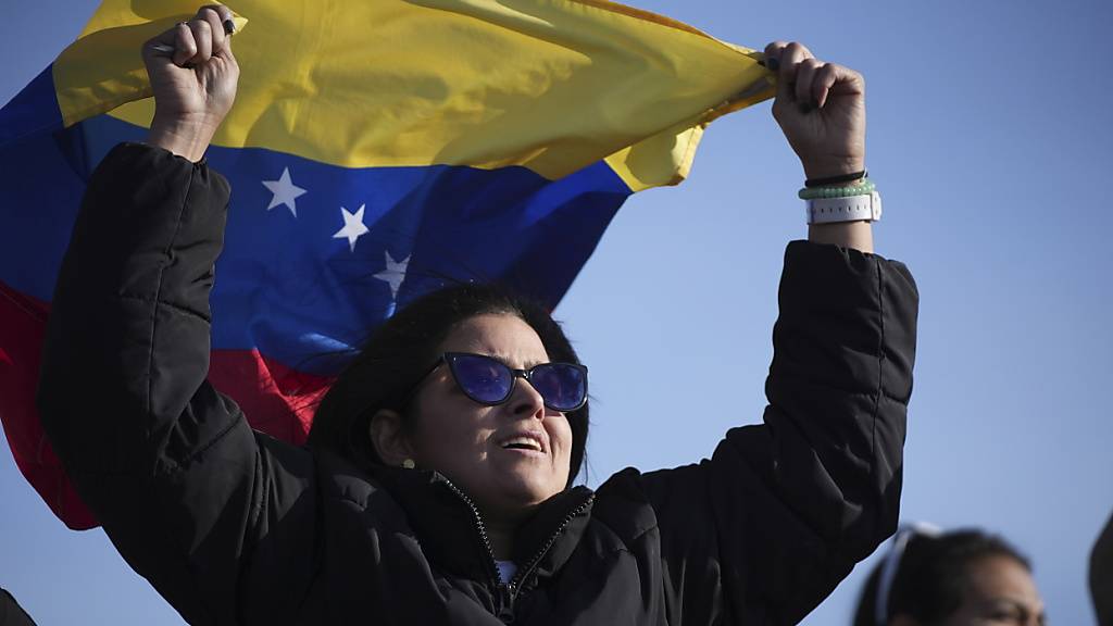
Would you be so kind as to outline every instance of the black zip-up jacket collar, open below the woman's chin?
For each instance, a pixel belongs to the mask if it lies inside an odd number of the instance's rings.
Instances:
[[[494,555],[479,509],[447,478],[427,470],[375,468],[374,478],[405,511],[425,557],[436,567],[495,585]],[[550,577],[572,555],[591,516],[594,493],[574,487],[543,502],[514,539],[515,579]]]

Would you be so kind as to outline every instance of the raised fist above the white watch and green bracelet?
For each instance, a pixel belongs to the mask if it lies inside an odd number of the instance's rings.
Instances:
[[[775,41],[766,67],[777,72],[772,115],[808,178],[866,168],[866,82],[861,75],[816,59],[800,43]]]

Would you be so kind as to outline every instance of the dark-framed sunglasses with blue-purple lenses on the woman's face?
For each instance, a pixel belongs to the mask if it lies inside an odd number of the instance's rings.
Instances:
[[[529,381],[553,411],[575,411],[588,402],[588,368],[577,363],[541,363],[515,370],[492,356],[466,352],[445,352],[433,369],[441,363],[449,364],[465,395],[487,407],[510,400],[518,379]]]

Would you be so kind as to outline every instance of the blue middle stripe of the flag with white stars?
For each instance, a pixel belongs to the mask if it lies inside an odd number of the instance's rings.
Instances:
[[[91,169],[146,129],[99,116],[0,150],[0,280],[49,301]],[[452,281],[502,281],[555,306],[630,189],[604,163],[560,180],[510,167],[346,169],[213,147],[233,187],[213,348],[329,375],[377,323]],[[276,204],[277,203],[277,204]],[[346,218],[345,218],[346,217]]]

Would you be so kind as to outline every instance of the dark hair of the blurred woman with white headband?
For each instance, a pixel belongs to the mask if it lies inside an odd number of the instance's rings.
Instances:
[[[913,535],[889,588],[886,624],[902,614],[920,624],[942,623],[963,605],[969,566],[988,557],[1011,558],[1032,571],[1032,564],[1016,548],[982,530]],[[877,588],[884,566],[883,559],[869,574],[858,598],[854,626],[878,626]]]

